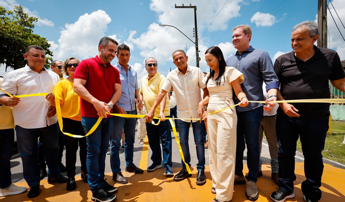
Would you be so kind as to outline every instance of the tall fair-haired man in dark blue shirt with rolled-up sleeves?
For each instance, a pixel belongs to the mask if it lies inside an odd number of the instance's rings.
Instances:
[[[269,111],[275,106],[271,101],[276,101],[278,98],[279,83],[268,53],[249,46],[251,37],[252,30],[247,25],[239,25],[233,29],[233,44],[237,52],[226,60],[226,64],[243,73],[245,79],[241,87],[248,96],[249,101],[265,100],[262,91],[263,82],[266,83],[266,91],[269,95],[269,99],[266,100],[268,105],[249,103],[247,107],[236,107],[238,120],[234,184],[246,183],[242,172],[243,152],[246,143],[249,169],[246,177],[248,180],[246,196],[249,200],[256,200],[259,196],[256,187],[260,159],[259,127],[263,117],[263,110]],[[240,101],[234,98],[234,102],[237,104]]]

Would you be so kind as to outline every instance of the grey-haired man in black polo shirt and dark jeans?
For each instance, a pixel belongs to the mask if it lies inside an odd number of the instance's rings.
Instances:
[[[314,46],[318,25],[312,21],[297,24],[291,34],[293,51],[274,63],[280,82],[278,100],[330,98],[328,80],[345,92],[345,73],[336,51]],[[294,198],[296,180],[295,152],[298,136],[304,155],[303,198],[307,202],[321,199],[323,172],[322,150],[328,130],[329,103],[280,103],[276,132],[279,144],[279,189],[270,198],[284,201]]]

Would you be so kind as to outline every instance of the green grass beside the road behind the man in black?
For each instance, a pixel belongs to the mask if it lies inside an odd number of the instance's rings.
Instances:
[[[324,158],[345,164],[344,134],[345,122],[332,121],[331,134],[327,134],[325,149],[322,152]],[[297,150],[302,152],[302,146],[299,139],[297,141]]]

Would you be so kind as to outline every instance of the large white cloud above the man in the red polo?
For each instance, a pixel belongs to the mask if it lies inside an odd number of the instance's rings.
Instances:
[[[55,60],[65,60],[77,56],[80,60],[95,57],[98,54],[99,40],[104,37],[110,17],[105,11],[85,13],[75,23],[65,24],[60,33],[59,47],[53,52]],[[111,35],[116,38],[116,35]],[[117,39],[121,41],[120,39]]]

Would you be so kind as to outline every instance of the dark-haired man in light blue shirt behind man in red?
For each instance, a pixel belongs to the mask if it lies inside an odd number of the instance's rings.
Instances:
[[[125,44],[120,44],[117,47],[117,58],[119,62],[115,67],[120,72],[121,80],[121,97],[119,101],[114,104],[116,113],[120,114],[135,114],[135,99],[137,99],[138,107],[141,106],[139,97],[139,85],[137,80],[137,72],[128,64],[130,57],[129,47]],[[113,173],[112,179],[119,184],[128,183],[128,180],[122,175],[120,169],[120,146],[122,129],[125,133],[125,160],[126,171],[134,172],[136,174],[144,171],[137,168],[133,164],[133,149],[135,140],[135,118],[113,117],[114,130],[110,139],[110,166]]]

